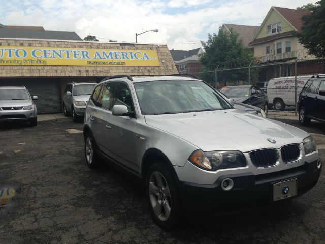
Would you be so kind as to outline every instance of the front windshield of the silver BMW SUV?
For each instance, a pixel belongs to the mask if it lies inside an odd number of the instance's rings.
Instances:
[[[135,83],[134,86],[144,115],[232,108],[220,95],[202,81],[150,81]]]

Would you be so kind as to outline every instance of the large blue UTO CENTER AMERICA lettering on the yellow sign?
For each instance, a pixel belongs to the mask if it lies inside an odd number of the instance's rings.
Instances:
[[[122,51],[95,51],[91,58],[87,50],[54,50],[33,49],[31,56],[34,58],[60,58],[60,59],[97,59],[97,60],[151,60],[146,52],[122,52]],[[26,58],[28,52],[25,49],[0,48],[0,58]]]

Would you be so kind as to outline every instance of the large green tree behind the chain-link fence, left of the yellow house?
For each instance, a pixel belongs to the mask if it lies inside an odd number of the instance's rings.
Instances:
[[[200,55],[200,62],[208,70],[215,70],[218,67],[217,82],[221,86],[226,82],[248,83],[248,69],[231,72],[220,71],[225,68],[247,67],[253,60],[253,52],[244,48],[236,32],[222,31],[219,28],[218,35],[208,34],[208,40],[201,41],[201,44],[205,52]],[[213,78],[215,77],[214,73],[208,74],[211,76],[209,80],[215,79]]]

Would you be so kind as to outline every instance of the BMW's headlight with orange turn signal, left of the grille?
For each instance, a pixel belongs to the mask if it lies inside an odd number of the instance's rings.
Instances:
[[[201,169],[209,171],[245,167],[247,165],[245,156],[240,151],[204,152],[196,150],[189,156],[188,161]]]

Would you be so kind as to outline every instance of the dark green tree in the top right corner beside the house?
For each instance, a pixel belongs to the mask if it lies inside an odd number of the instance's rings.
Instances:
[[[303,26],[296,32],[300,43],[308,53],[316,57],[325,57],[325,0],[316,2],[311,13],[302,17]]]

